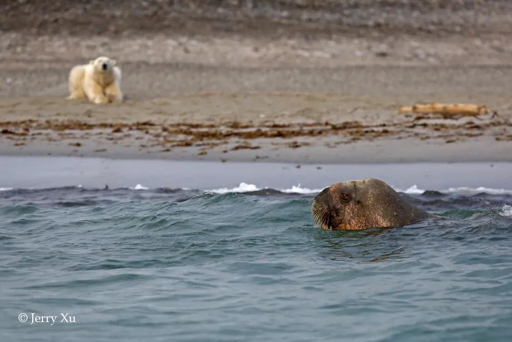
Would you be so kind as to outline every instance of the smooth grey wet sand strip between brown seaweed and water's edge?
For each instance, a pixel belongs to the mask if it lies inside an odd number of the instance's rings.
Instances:
[[[331,137],[324,138],[326,144]],[[356,142],[349,145],[338,145],[332,148],[320,146],[302,146],[287,148],[287,142],[276,143],[276,140],[259,141],[254,145],[258,149],[239,149],[223,153],[224,148],[215,148],[206,155],[198,147],[180,147],[173,151],[137,151],[131,148],[109,147],[101,145],[80,148],[61,144],[60,146],[40,146],[35,143],[28,149],[18,150],[15,146],[6,146],[0,140],[0,156],[52,156],[52,157],[82,157],[107,158],[112,160],[168,160],[173,162],[270,162],[290,163],[296,165],[346,165],[346,164],[408,164],[408,163],[506,163],[512,162],[510,142],[496,142],[494,139],[483,137],[480,140],[470,140],[445,144],[443,140],[425,144],[414,138],[400,140],[377,140],[374,142]],[[294,139],[297,145],[312,144],[305,138]],[[318,143],[318,142],[317,142]],[[323,143],[323,142],[322,142]],[[272,144],[280,144],[275,147]],[[236,148],[236,143],[228,144],[228,148]],[[249,145],[252,146],[252,145]],[[284,146],[284,147],[283,147]],[[475,151],[478,151],[476,153]]]

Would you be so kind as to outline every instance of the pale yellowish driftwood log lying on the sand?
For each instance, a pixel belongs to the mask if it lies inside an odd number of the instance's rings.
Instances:
[[[444,117],[450,116],[478,116],[489,112],[489,108],[485,105],[473,104],[442,104],[431,103],[428,105],[404,106],[400,107],[399,113],[421,113],[421,114],[441,114]]]

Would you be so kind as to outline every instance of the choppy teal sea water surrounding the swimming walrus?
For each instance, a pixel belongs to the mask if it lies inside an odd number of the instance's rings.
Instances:
[[[440,217],[356,232],[312,196],[0,191],[0,340],[512,339],[512,195],[404,194]]]

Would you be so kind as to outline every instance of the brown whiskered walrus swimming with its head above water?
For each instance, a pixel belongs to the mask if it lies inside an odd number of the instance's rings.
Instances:
[[[315,196],[311,215],[323,229],[402,227],[432,217],[403,199],[382,180],[348,180],[331,185]]]

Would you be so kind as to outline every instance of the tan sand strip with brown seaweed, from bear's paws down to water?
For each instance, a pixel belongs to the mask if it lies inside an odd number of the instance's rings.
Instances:
[[[297,164],[512,161],[506,94],[455,96],[476,98],[497,117],[443,119],[397,113],[415,96],[397,94],[405,89],[375,96],[205,92],[108,106],[0,97],[0,154]]]

